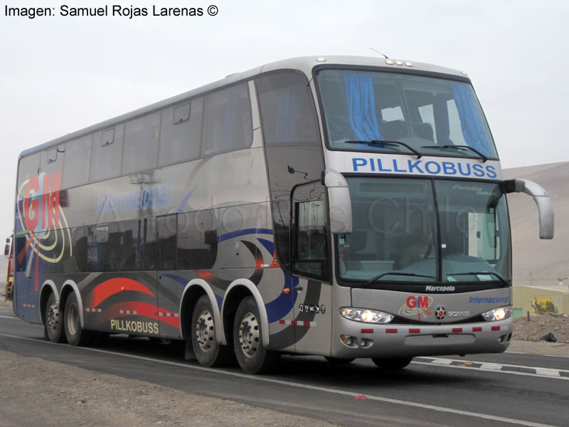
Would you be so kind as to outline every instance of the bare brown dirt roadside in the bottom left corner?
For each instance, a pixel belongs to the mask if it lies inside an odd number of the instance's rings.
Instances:
[[[0,427],[333,426],[11,352],[0,379]]]

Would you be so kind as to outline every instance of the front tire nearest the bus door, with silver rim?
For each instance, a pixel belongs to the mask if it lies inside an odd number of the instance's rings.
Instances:
[[[245,297],[235,313],[233,344],[239,366],[249,374],[266,374],[275,369],[280,354],[262,342],[259,309],[253,297]]]

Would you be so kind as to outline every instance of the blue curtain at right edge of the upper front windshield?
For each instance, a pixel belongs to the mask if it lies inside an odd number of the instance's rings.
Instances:
[[[491,156],[490,142],[468,85],[452,83],[452,95],[457,105],[462,135],[469,147]]]

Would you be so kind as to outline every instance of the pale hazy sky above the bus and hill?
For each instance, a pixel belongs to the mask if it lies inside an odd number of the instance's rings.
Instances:
[[[152,16],[152,5],[203,16]],[[216,16],[208,6],[217,6]],[[61,6],[109,16],[61,16]],[[111,16],[112,6],[149,16]],[[294,56],[377,56],[466,70],[503,167],[569,161],[569,1],[8,1],[0,4],[0,238],[13,228],[23,149]],[[563,177],[565,179],[565,177]]]

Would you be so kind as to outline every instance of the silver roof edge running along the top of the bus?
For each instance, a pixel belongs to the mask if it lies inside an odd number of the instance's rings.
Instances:
[[[241,80],[248,80],[260,73],[268,73],[270,71],[275,71],[275,70],[300,70],[306,75],[310,76],[312,75],[312,69],[314,67],[338,66],[338,65],[352,65],[352,66],[360,65],[363,67],[385,68],[386,70],[387,69],[388,70],[400,69],[402,71],[415,70],[426,73],[446,74],[462,79],[466,78],[466,73],[458,70],[453,70],[452,68],[445,68],[445,67],[440,67],[438,65],[432,65],[427,63],[415,63],[409,60],[374,58],[368,56],[304,56],[299,58],[289,58],[284,60],[278,60],[273,63],[267,63],[265,65],[261,65],[259,67],[252,68],[250,70],[243,71],[240,73],[230,74],[226,78],[217,80],[216,82],[208,83],[207,85],[189,90],[188,92],[181,93],[180,95],[169,97],[159,102],[154,102],[153,104],[147,105],[146,107],[142,107],[137,110],[127,112],[126,114],[119,115],[117,117],[113,117],[112,119],[105,120],[104,122],[97,123],[96,125],[85,127],[82,130],[69,133],[67,135],[64,135],[63,137],[52,139],[51,141],[48,141],[44,144],[40,144],[36,147],[23,150],[19,158],[21,159],[30,154],[34,154],[36,152],[41,152],[42,150],[57,147],[58,145],[64,142],[72,141],[73,139],[89,135],[92,132],[105,130],[109,127],[113,127],[115,125],[119,125],[120,123],[127,122],[128,120],[148,115],[151,112],[156,112],[165,107],[176,105],[180,102],[184,102],[185,100],[191,99],[192,97],[213,92],[215,90],[218,90],[219,88],[223,88],[226,85],[230,85],[232,83],[236,83]]]

